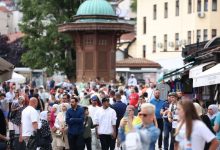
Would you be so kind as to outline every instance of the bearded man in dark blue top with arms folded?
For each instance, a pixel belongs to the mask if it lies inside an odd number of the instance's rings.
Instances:
[[[71,108],[66,112],[66,123],[68,125],[68,141],[70,150],[83,150],[83,122],[84,110],[78,105],[78,98],[71,97]]]

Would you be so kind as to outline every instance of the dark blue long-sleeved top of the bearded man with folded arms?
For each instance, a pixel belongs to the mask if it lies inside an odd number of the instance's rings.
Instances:
[[[71,135],[83,134],[84,109],[77,106],[76,110],[70,108],[66,112],[68,133]]]

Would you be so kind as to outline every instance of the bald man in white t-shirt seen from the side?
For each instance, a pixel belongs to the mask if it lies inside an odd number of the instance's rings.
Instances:
[[[20,139],[23,139],[28,144],[31,135],[38,129],[39,114],[36,110],[38,100],[35,97],[30,98],[29,106],[27,106],[21,115],[22,133]]]

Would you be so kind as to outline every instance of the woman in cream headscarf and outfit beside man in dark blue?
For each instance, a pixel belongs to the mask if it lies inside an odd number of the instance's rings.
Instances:
[[[55,120],[55,150],[69,149],[68,138],[67,138],[67,126],[66,126],[66,111],[70,108],[70,104],[60,104],[60,110]]]

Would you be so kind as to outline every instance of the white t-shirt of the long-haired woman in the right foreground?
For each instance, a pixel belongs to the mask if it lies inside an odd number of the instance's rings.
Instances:
[[[193,130],[190,141],[186,138],[186,126],[183,124],[176,136],[176,141],[179,142],[181,150],[191,148],[192,150],[202,150],[205,147],[205,143],[211,142],[215,138],[215,135],[209,130],[209,128],[200,120],[193,121]],[[191,145],[191,147],[189,147]]]

